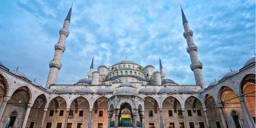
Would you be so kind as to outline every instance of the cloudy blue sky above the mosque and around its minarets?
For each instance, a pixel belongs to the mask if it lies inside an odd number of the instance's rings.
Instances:
[[[198,58],[208,86],[225,73],[239,70],[254,57],[254,0],[184,1],[2,1],[0,61],[10,70],[19,66],[43,86],[53,59],[59,29],[73,2],[66,51],[57,84],[74,84],[94,69],[125,59],[159,70],[159,56],[168,78],[180,85],[195,84],[180,4],[193,30]]]

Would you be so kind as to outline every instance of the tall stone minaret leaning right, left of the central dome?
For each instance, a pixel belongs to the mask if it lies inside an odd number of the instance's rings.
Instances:
[[[72,5],[73,5],[73,3],[72,3]],[[65,42],[66,42],[66,38],[69,35],[68,27],[69,27],[69,23],[70,23],[72,5],[68,11],[66,19],[64,20],[63,27],[59,31],[59,33],[60,33],[59,41],[58,41],[58,43],[56,43],[54,45],[55,54],[54,54],[53,60],[50,61],[50,63],[49,63],[50,72],[49,72],[49,75],[47,78],[45,88],[49,88],[49,86],[51,84],[56,83],[58,72],[62,66],[61,58],[62,58],[63,52],[66,50]]]

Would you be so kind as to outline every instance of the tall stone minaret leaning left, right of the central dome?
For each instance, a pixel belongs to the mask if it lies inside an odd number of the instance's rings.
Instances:
[[[203,74],[202,74],[203,64],[198,60],[197,46],[194,44],[194,41],[193,41],[193,31],[189,29],[188,21],[185,17],[182,6],[181,6],[181,13],[182,13],[183,27],[185,31],[183,33],[183,36],[187,40],[187,44],[188,44],[187,52],[189,53],[190,60],[191,60],[190,69],[194,72],[196,85],[201,85],[201,88],[205,88]]]

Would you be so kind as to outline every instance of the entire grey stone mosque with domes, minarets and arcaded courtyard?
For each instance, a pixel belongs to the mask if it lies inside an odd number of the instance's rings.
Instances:
[[[160,67],[128,59],[94,67],[73,85],[58,85],[71,9],[60,29],[45,88],[0,63],[1,128],[255,128],[255,57],[205,86],[182,11],[196,85],[179,85]],[[164,64],[163,64],[164,65]]]

